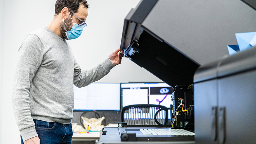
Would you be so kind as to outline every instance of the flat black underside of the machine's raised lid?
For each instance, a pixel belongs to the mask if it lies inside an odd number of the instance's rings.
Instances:
[[[141,34],[138,44],[140,52],[130,57],[133,62],[172,87],[193,84],[198,64],[146,31]]]

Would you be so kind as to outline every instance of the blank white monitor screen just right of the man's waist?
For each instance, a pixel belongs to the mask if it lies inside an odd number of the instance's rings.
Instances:
[[[92,83],[74,85],[74,110],[120,110],[120,84]]]

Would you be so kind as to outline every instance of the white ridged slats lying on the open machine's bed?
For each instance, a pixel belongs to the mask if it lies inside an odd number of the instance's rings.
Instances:
[[[194,132],[183,129],[140,129],[143,135],[177,135],[177,136],[194,136]]]

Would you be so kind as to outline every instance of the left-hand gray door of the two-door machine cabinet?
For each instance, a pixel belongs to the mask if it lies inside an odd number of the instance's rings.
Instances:
[[[209,89],[210,87],[210,89]],[[217,106],[217,80],[194,84],[195,140],[197,143],[216,144],[217,137],[212,123]]]

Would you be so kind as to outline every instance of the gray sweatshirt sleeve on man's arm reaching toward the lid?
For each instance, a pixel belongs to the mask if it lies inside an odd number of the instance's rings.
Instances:
[[[103,76],[106,76],[110,69],[114,68],[115,65],[109,58],[101,61],[96,67],[81,70],[77,61],[74,58],[74,85],[77,87],[84,87],[92,82],[100,80]]]

